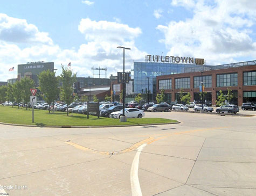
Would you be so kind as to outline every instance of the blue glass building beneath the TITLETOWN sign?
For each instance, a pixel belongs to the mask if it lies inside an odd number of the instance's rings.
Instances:
[[[134,62],[134,94],[143,94],[149,89],[151,97],[155,97],[156,76],[179,74],[191,70],[209,70],[210,67],[196,64]]]

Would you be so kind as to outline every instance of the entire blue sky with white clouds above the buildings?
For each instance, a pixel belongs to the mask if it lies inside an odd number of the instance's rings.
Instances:
[[[0,81],[33,61],[54,62],[57,75],[69,62],[78,77],[92,77],[93,66],[116,75],[117,46],[131,48],[126,71],[148,54],[210,65],[256,60],[255,10],[253,0],[0,1]]]

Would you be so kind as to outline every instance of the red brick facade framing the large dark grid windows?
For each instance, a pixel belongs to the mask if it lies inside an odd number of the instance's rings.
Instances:
[[[238,105],[242,105],[243,103],[243,92],[244,91],[256,91],[256,85],[252,86],[244,86],[243,85],[243,72],[245,71],[255,71],[255,66],[241,66],[241,67],[235,67],[235,68],[226,68],[226,69],[217,69],[217,70],[210,70],[203,72],[203,76],[211,75],[212,76],[212,87],[211,88],[205,88],[204,91],[211,92],[212,93],[212,105],[215,105],[216,103],[216,92],[219,90],[226,91],[227,88],[230,88],[231,90],[237,90],[238,91]],[[238,85],[237,86],[225,86],[225,87],[216,87],[216,75],[217,74],[231,74],[231,73],[237,73],[238,74]],[[161,79],[171,79],[171,89],[170,90],[164,90],[165,93],[171,93],[171,101],[175,101],[175,93],[178,93],[181,89],[175,89],[175,78],[184,78],[184,77],[190,77],[190,89],[184,89],[184,92],[190,92],[191,95],[191,101],[193,101],[194,92],[199,92],[199,88],[193,88],[193,77],[194,76],[201,76],[200,72],[190,72],[190,73],[184,73],[184,74],[173,74],[173,75],[164,75],[164,76],[157,76],[156,77],[156,89],[157,93],[160,93],[159,90],[159,80]]]

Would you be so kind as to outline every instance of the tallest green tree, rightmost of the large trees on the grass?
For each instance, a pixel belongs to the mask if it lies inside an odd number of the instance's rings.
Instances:
[[[73,101],[73,83],[77,78],[77,74],[73,74],[70,69],[64,68],[63,66],[61,66],[61,68],[62,72],[60,74],[60,79],[61,82],[63,82],[63,85],[60,88],[60,99],[64,100],[68,106]]]

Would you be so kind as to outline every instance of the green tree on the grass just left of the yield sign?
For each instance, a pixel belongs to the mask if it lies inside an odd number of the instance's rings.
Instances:
[[[31,96],[30,89],[34,88],[34,81],[28,77],[22,78],[20,80],[20,86],[22,91],[22,99],[24,101],[24,104],[26,104],[26,110],[27,110],[27,104],[30,102],[30,96]]]

